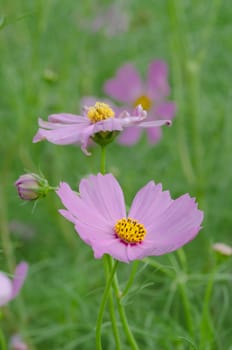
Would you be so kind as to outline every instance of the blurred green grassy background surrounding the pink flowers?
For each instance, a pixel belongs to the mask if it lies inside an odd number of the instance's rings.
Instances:
[[[110,145],[107,170],[128,203],[151,179],[173,197],[196,196],[204,228],[184,253],[141,262],[127,313],[141,349],[231,350],[231,258],[212,251],[214,242],[232,243],[231,3],[117,3],[129,28],[108,37],[104,29],[93,33],[91,23],[109,1],[1,0],[0,270],[12,273],[22,259],[30,264],[1,327],[7,338],[22,334],[30,349],[95,347],[102,263],[57,214],[55,194],[33,210],[31,203],[22,205],[13,183],[25,169],[73,188],[97,173],[97,148],[87,158],[75,146],[32,144],[38,117],[79,113],[81,97],[104,97],[105,80],[125,62],[145,76],[151,60],[164,59],[178,108],[172,128],[155,147],[145,137],[132,148]],[[130,265],[120,264],[122,285],[129,273]],[[103,330],[103,348],[114,349],[107,313]]]

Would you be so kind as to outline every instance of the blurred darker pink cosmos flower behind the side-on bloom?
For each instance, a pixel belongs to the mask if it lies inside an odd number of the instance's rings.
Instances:
[[[143,82],[133,64],[123,65],[116,76],[104,85],[104,91],[113,99],[122,102],[126,108],[133,109],[141,104],[148,112],[148,120],[172,119],[175,115],[174,102],[166,101],[170,93],[168,68],[164,61],[152,61],[147,81]],[[127,128],[119,137],[125,145],[135,144],[141,134],[138,128]],[[147,129],[150,143],[155,144],[161,137],[161,128]]]

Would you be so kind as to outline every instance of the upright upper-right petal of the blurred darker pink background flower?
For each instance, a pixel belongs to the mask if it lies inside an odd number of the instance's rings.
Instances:
[[[169,95],[167,76],[168,68],[164,61],[151,62],[148,69],[147,92],[152,100],[163,100]]]

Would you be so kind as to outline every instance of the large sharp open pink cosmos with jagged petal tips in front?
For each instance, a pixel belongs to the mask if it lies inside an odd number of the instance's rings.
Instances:
[[[136,194],[128,215],[112,174],[83,179],[79,195],[61,183],[57,194],[66,207],[60,213],[75,225],[95,258],[109,254],[128,263],[172,252],[197,235],[203,220],[194,198],[185,194],[173,200],[153,181]]]

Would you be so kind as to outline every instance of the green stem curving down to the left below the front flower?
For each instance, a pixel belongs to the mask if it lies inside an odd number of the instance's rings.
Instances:
[[[104,260],[107,260],[107,256],[104,256]],[[108,295],[110,292],[110,288],[111,288],[111,284],[113,281],[113,277],[115,274],[115,271],[117,269],[118,266],[118,261],[115,262],[110,275],[108,276],[107,282],[106,282],[106,286],[104,289],[104,293],[102,296],[102,301],[100,304],[100,309],[99,309],[99,313],[98,313],[98,318],[97,318],[97,324],[96,324],[96,350],[102,350],[102,344],[101,344],[101,328],[102,328],[102,320],[103,320],[103,314],[104,314],[104,310],[105,310],[105,306],[106,306],[106,302],[108,299]]]

